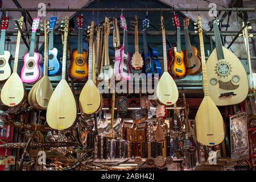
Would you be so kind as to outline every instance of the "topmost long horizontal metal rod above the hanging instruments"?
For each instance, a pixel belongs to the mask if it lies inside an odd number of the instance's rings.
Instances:
[[[133,9],[133,8],[127,8],[127,9],[122,9],[122,8],[93,8],[93,9],[46,9],[46,11],[210,11],[210,8],[142,8],[142,9]],[[23,9],[23,8],[2,8],[0,11],[38,11],[38,9]],[[218,8],[216,11],[256,11],[256,7],[226,7],[226,8]]]

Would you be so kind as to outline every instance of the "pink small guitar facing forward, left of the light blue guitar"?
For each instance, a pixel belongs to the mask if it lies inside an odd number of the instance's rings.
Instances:
[[[28,84],[38,81],[43,76],[43,56],[40,55],[40,53],[35,52],[35,37],[39,22],[40,18],[33,19],[30,52],[24,55],[24,65],[20,73],[22,81]]]

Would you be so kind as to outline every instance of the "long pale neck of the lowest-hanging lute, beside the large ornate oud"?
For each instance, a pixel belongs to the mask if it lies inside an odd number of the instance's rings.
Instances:
[[[202,62],[201,64],[202,64],[202,73],[203,73],[204,95],[205,96],[209,96],[207,68],[206,68],[206,65],[205,65],[205,52],[204,52],[203,31],[199,31],[199,40],[200,40],[200,52],[201,52],[201,62]]]

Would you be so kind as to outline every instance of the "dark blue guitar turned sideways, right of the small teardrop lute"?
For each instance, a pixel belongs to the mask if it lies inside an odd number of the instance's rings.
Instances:
[[[143,72],[146,73],[158,73],[162,74],[162,68],[158,60],[158,50],[150,48],[147,44],[147,32],[146,28],[149,27],[149,20],[146,18],[142,22],[143,26],[143,48],[144,48],[144,67]]]

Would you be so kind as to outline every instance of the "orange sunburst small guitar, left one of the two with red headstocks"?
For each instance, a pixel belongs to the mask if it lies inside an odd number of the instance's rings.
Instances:
[[[82,26],[84,20],[82,15],[76,16],[78,30],[78,46],[72,51],[72,61],[69,67],[69,76],[75,80],[84,80],[88,77],[87,52],[83,49]]]

